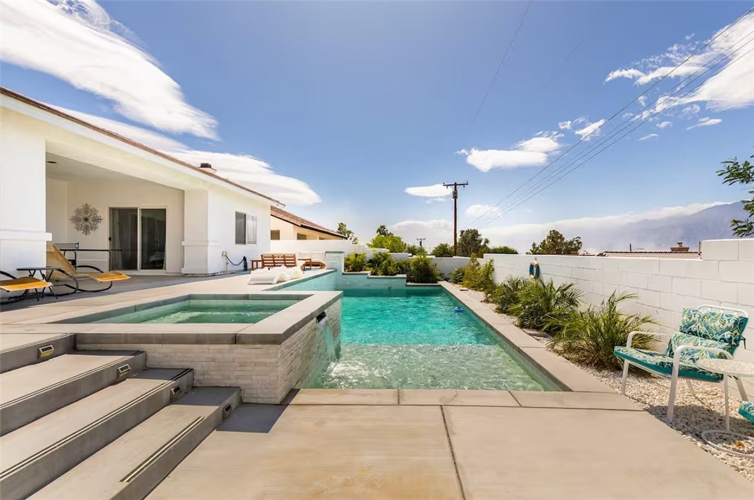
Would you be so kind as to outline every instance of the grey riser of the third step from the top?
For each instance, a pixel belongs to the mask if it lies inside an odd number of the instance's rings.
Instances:
[[[121,434],[164,408],[170,403],[170,389],[180,386],[182,392],[186,392],[192,387],[193,382],[193,373],[189,371],[178,380],[164,384],[159,389],[133,401],[133,404],[128,407],[106,416],[92,427],[26,462],[14,473],[0,479],[3,500],[26,498],[51,483],[87,456],[115,441]],[[61,438],[64,437],[61,436]]]

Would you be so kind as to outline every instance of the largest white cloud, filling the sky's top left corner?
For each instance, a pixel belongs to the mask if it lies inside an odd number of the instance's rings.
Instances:
[[[3,2],[2,8],[3,61],[109,99],[136,122],[216,139],[216,120],[189,105],[176,81],[94,0]]]

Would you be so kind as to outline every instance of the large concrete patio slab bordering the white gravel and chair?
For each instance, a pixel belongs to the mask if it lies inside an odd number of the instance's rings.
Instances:
[[[444,411],[467,500],[752,498],[744,477],[645,412]]]

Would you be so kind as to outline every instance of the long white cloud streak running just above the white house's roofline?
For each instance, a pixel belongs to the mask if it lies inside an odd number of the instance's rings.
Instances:
[[[283,203],[312,205],[322,201],[319,195],[304,181],[288,177],[287,175],[277,174],[269,163],[248,154],[192,150],[176,140],[162,136],[151,130],[134,127],[127,123],[98,117],[93,114],[56,107],[60,111],[72,114],[97,127],[102,127],[128,139],[141,142],[143,145],[163,151],[194,166],[199,166],[200,163],[210,163],[221,177],[244,185],[259,193],[266,194]]]

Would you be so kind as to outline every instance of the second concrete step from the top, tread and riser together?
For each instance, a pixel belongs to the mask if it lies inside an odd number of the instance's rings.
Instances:
[[[139,351],[72,352],[0,373],[0,435],[143,370]]]

